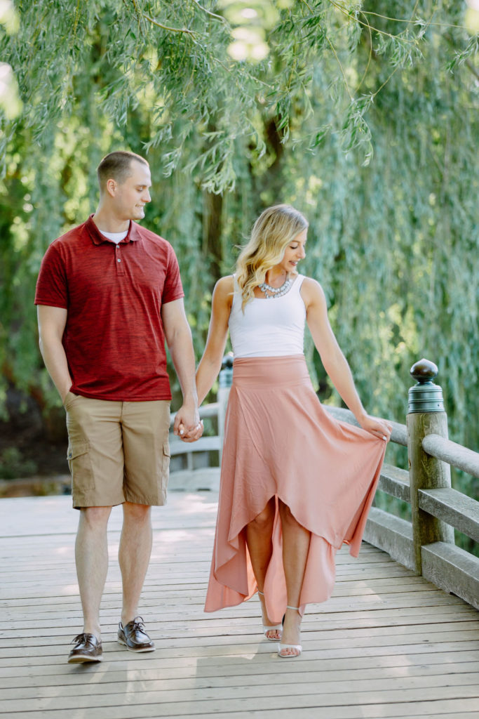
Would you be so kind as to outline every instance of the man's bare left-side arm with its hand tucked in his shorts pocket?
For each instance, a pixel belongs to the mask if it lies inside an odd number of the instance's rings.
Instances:
[[[72,386],[67,356],[62,345],[67,314],[67,310],[62,307],[37,307],[40,352],[62,402]]]

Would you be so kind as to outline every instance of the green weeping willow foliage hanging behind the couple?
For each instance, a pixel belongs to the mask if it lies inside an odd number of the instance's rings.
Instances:
[[[294,203],[311,224],[304,272],[325,287],[368,409],[404,421],[407,370],[426,355],[452,436],[475,446],[479,72],[466,2],[16,7],[1,39],[22,101],[0,143],[10,383],[55,401],[36,349],[39,260],[93,211],[101,157],[129,147],[152,165],[147,224],[177,249],[198,353],[215,279],[256,214]]]

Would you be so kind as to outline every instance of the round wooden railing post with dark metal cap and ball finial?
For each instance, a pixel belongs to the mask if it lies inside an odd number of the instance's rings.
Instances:
[[[422,448],[422,440],[427,434],[439,434],[447,439],[447,414],[442,402],[442,389],[432,383],[437,371],[437,366],[428,359],[420,359],[410,370],[411,376],[417,380],[417,385],[409,390],[406,417],[414,569],[417,574],[422,574],[421,548],[424,544],[434,541],[454,544],[453,528],[419,508],[418,490],[451,486],[449,464],[431,457]]]

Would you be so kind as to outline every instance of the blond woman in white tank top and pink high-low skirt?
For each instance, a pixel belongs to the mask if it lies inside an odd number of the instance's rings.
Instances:
[[[233,386],[205,610],[236,605],[258,590],[264,635],[279,641],[282,657],[301,653],[305,605],[330,596],[336,549],[346,541],[358,554],[391,436],[390,424],[361,404],[322,288],[297,272],[307,227],[288,205],[259,216],[236,275],[215,286],[197,369],[201,403],[220,370],[229,328]],[[304,360],[304,321],[362,429],[320,405]]]

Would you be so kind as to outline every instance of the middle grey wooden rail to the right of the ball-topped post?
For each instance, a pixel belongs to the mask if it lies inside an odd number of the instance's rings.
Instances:
[[[479,502],[452,487],[419,490],[419,507],[479,541]]]

